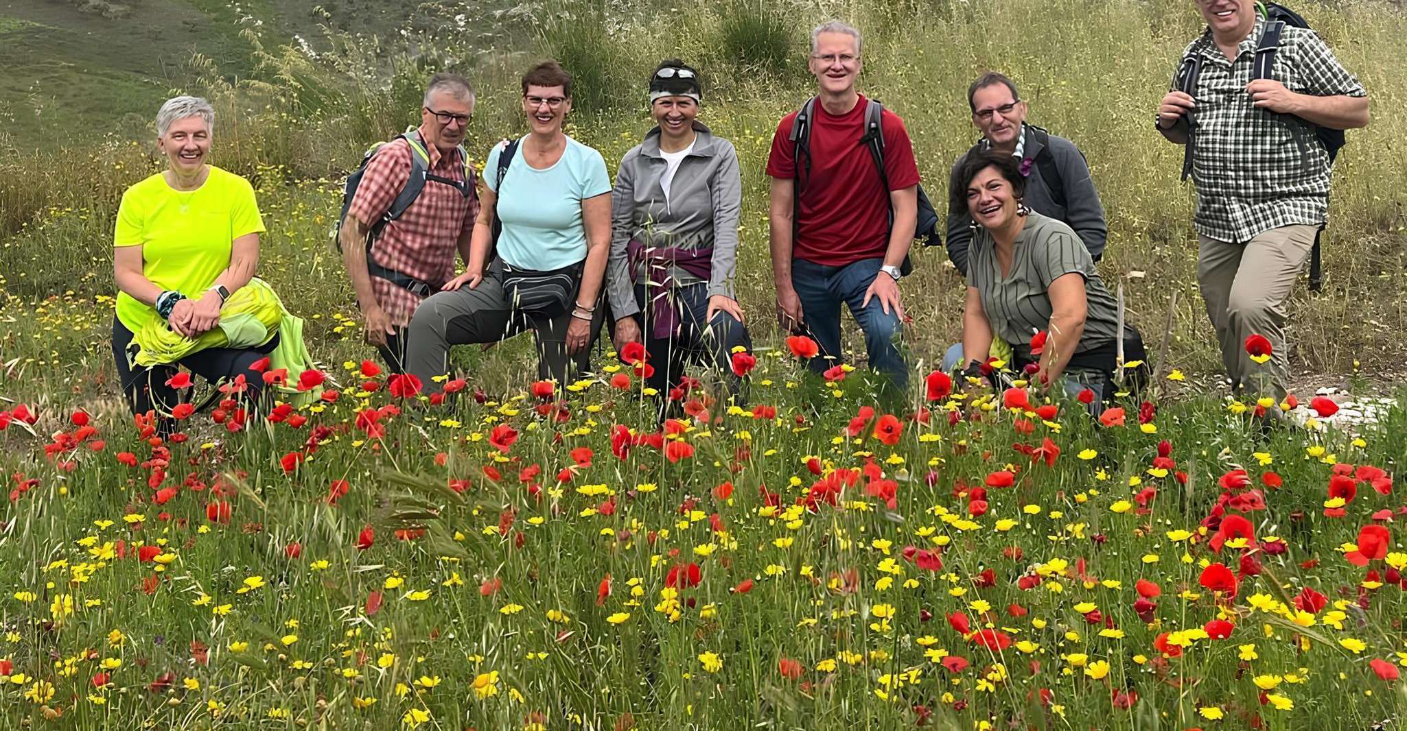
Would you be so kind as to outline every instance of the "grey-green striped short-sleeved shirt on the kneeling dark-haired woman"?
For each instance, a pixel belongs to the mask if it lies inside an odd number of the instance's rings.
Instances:
[[[1050,328],[1050,285],[1064,274],[1085,278],[1085,332],[1075,353],[1109,343],[1119,333],[1114,298],[1109,295],[1095,260],[1074,229],[1040,214],[1026,216],[1016,236],[1012,269],[1002,276],[992,233],[978,228],[968,259],[968,285],[982,299],[982,311],[998,337],[1029,353],[1031,336]],[[1023,350],[1024,349],[1024,350]]]

